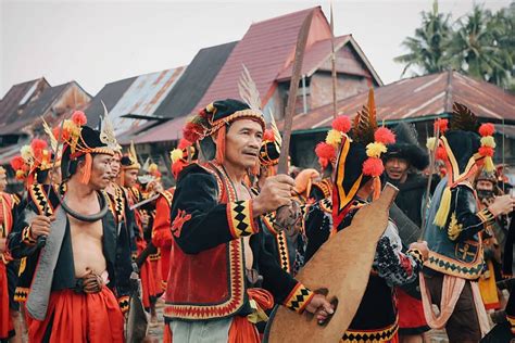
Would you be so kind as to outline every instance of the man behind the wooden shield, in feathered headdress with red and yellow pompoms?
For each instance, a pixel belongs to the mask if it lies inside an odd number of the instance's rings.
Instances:
[[[380,156],[387,145],[394,142],[394,135],[387,128],[377,128],[375,119],[374,93],[370,90],[368,105],[357,113],[352,132],[350,119],[338,118],[338,129],[328,132],[325,144],[336,151],[332,225],[323,225],[315,233],[310,232],[309,246],[324,243],[325,239],[352,224],[355,214],[368,204],[370,198],[377,199],[381,190],[379,177],[384,172]],[[329,151],[330,147],[324,147]],[[321,148],[318,148],[319,150]],[[331,154],[325,156],[331,160]],[[312,213],[310,213],[312,215]],[[394,287],[413,282],[422,269],[427,255],[425,243],[413,243],[404,254],[397,227],[389,221],[379,239],[374,257],[370,277],[365,294],[351,325],[341,342],[398,342],[398,310]],[[309,247],[316,252],[317,246]]]

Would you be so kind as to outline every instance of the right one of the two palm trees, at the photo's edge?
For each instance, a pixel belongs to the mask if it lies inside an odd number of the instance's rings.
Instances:
[[[501,87],[507,86],[513,74],[513,30],[508,30],[506,13],[500,11],[492,15],[489,10],[474,5],[470,14],[456,22],[449,46],[454,68]]]

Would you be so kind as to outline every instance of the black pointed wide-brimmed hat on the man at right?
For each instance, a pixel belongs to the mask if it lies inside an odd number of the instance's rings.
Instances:
[[[401,123],[393,128],[393,134],[395,134],[395,143],[388,145],[384,160],[403,158],[418,170],[424,170],[429,165],[429,155],[418,145],[415,127]]]

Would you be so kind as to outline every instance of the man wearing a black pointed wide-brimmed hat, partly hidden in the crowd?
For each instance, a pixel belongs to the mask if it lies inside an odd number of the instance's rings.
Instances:
[[[429,164],[428,154],[418,145],[415,127],[401,123],[393,128],[395,143],[388,145],[384,155],[387,182],[399,188],[395,205],[414,224],[412,230],[404,228],[400,234],[407,246],[420,236],[422,217],[426,202],[427,177],[420,175]],[[435,180],[435,185],[438,180]],[[424,332],[429,331],[424,317],[418,282],[397,290],[399,308],[399,338],[401,343],[424,342]]]

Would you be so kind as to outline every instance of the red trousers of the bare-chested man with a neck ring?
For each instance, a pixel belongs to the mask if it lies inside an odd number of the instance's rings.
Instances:
[[[47,318],[29,318],[29,342],[122,343],[124,317],[116,297],[104,287],[95,294],[72,290],[52,292]]]

